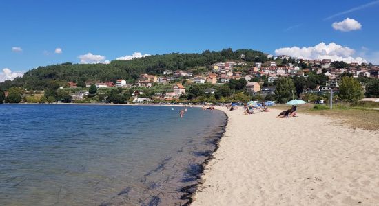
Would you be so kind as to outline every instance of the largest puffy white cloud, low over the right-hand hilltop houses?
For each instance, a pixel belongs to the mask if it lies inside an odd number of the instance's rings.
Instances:
[[[356,51],[349,47],[342,47],[336,43],[319,43],[314,47],[284,47],[275,50],[276,55],[289,55],[303,59],[331,59],[331,61],[367,62],[362,57],[353,57]]]

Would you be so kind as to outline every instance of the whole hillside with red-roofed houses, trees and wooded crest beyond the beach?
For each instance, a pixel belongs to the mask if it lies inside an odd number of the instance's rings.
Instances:
[[[110,64],[38,67],[1,82],[0,102],[317,102],[327,101],[331,89],[334,101],[356,102],[364,96],[379,97],[378,71],[378,66],[366,63],[272,56],[252,49],[207,50]]]

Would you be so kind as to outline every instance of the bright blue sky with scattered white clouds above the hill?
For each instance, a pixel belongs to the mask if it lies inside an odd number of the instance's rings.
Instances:
[[[255,49],[379,64],[379,0],[6,0],[0,82],[34,67]]]

